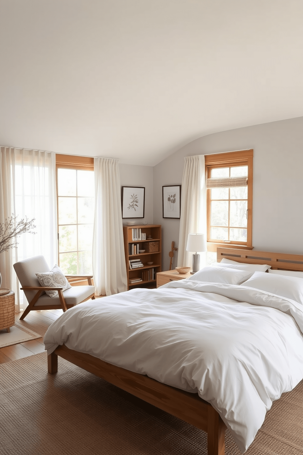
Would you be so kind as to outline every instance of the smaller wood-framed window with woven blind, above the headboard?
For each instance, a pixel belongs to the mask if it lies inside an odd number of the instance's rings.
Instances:
[[[208,250],[252,247],[253,150],[207,155],[205,167]]]

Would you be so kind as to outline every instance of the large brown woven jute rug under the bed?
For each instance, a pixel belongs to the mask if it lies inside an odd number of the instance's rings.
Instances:
[[[1,455],[207,455],[206,434],[46,353],[0,365]],[[226,455],[240,455],[226,432]],[[247,455],[303,454],[303,383],[273,403]]]

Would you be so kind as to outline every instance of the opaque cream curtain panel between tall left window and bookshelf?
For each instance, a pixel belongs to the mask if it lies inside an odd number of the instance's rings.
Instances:
[[[118,160],[94,158],[93,275],[96,295],[127,290]]]

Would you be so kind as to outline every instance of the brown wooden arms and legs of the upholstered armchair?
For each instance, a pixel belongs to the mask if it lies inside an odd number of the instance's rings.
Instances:
[[[73,282],[75,279],[87,279],[89,286],[92,286],[92,281],[91,279],[93,278],[93,275],[66,275],[67,280],[70,282]],[[65,298],[62,292],[62,287],[58,288],[52,288],[52,287],[47,287],[47,286],[25,286],[23,288],[20,288],[22,291],[37,291],[35,296],[32,298],[32,300],[29,302],[28,306],[25,308],[24,312],[20,316],[20,320],[24,319],[25,316],[30,312],[30,311],[38,311],[38,310],[51,310],[51,309],[63,309],[63,312],[65,312],[68,308],[72,308],[74,305],[68,305],[65,302]],[[50,305],[35,305],[35,303],[39,300],[40,295],[44,291],[58,291],[58,296],[60,300],[60,304],[50,304]],[[89,297],[85,298],[82,300],[80,303],[86,302],[86,300],[89,300],[90,298],[94,299],[94,293],[89,295]]]

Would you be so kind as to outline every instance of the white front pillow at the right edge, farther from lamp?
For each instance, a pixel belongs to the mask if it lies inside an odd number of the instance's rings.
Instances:
[[[303,304],[303,279],[275,275],[273,273],[255,272],[241,286],[260,289],[260,291],[270,292],[285,298],[291,298]]]

